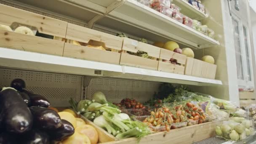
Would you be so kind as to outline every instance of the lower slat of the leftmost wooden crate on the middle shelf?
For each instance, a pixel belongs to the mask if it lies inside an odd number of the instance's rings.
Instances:
[[[64,42],[0,30],[0,47],[62,56]]]

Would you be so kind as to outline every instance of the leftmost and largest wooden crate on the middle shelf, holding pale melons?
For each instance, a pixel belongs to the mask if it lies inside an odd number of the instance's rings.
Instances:
[[[65,37],[67,22],[0,4],[0,24],[32,27],[41,34]],[[13,29],[15,30],[15,29]],[[0,47],[62,56],[64,42],[0,30]]]

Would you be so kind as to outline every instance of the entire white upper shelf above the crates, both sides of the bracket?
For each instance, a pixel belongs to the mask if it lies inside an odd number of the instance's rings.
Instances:
[[[12,5],[22,5],[32,11],[52,13],[61,19],[86,25],[97,15],[107,12],[107,5],[116,0],[0,0]],[[60,5],[58,8],[55,5]],[[188,6],[189,4],[187,4]],[[190,5],[189,5],[190,6]],[[190,8],[190,7],[189,7]],[[69,9],[70,12],[66,11]],[[195,11],[196,9],[193,9]],[[50,15],[51,16],[51,15]],[[136,0],[127,0],[123,5],[111,11],[97,21],[97,27],[115,29],[136,37],[144,37],[151,41],[175,40],[186,47],[208,48],[219,45],[219,42],[187,27],[164,14],[153,10]]]

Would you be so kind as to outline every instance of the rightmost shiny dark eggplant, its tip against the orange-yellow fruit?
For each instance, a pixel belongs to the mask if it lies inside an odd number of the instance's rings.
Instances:
[[[51,140],[61,141],[75,133],[75,128],[67,120],[61,120],[62,124],[55,131],[49,131]]]

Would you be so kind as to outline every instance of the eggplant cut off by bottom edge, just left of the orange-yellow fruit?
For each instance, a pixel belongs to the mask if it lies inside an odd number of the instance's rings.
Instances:
[[[32,130],[20,136],[19,144],[50,144],[47,133],[40,130]]]

